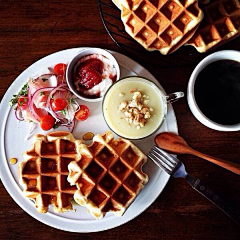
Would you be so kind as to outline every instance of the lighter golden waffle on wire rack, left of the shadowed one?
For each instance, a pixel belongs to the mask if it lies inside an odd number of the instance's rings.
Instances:
[[[174,52],[203,18],[198,0],[113,0],[130,36],[149,51]]]

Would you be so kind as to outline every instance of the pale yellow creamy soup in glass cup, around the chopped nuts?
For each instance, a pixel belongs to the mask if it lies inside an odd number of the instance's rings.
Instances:
[[[151,117],[144,127],[126,121],[124,112],[119,110],[122,102],[131,101],[134,92],[140,92],[147,101]],[[142,139],[154,133],[161,126],[166,115],[166,104],[161,90],[150,80],[141,77],[127,77],[114,83],[103,99],[103,115],[109,128],[127,139]]]

